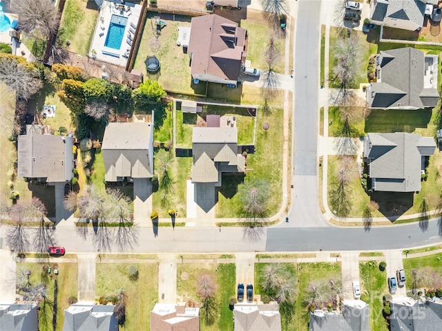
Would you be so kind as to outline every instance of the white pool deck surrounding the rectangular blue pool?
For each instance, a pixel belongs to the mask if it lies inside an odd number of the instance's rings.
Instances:
[[[128,36],[133,33],[130,30],[135,30],[133,26],[137,26],[138,19],[140,18],[141,8],[140,5],[126,2],[121,5],[121,2],[117,3],[119,8],[116,8],[115,2],[103,1],[102,8],[99,12],[97,19],[97,26],[95,26],[95,32],[92,42],[90,43],[89,56],[93,56],[93,50],[95,50],[95,58],[103,62],[116,64],[117,66],[126,66],[129,52],[131,50],[131,44],[128,44]],[[127,24],[124,30],[124,37],[119,50],[115,48],[109,48],[104,46],[108,29],[111,24],[112,15],[119,15],[127,17]]]

